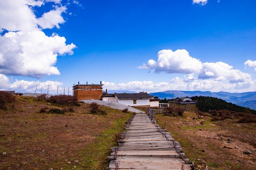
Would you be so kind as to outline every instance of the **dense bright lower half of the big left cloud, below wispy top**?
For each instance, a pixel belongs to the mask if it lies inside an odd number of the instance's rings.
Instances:
[[[64,37],[48,37],[42,31],[9,32],[0,37],[0,44],[0,73],[31,77],[59,75],[57,55],[73,54],[76,48],[66,45]]]

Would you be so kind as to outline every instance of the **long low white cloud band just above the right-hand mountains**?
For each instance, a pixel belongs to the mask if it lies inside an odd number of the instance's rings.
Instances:
[[[244,92],[255,91],[254,87],[256,82],[243,82],[243,83],[224,83],[216,80],[194,80],[186,81],[180,77],[173,78],[170,82],[153,83],[152,81],[132,81],[128,83],[115,84],[110,82],[103,82],[104,88],[108,90],[129,90],[135,92],[162,92],[168,90],[200,90],[211,92]]]

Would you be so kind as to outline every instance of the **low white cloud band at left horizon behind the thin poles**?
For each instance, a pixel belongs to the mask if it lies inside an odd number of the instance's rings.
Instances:
[[[15,82],[10,83],[9,78],[3,74],[0,74],[0,90],[15,90],[16,92],[21,93],[35,93],[36,87],[37,93],[47,93],[48,86],[49,86],[49,93],[57,94],[57,86],[63,85],[61,82],[57,81],[25,81],[25,80],[15,80]],[[58,87],[58,93],[64,93],[63,87]],[[72,94],[72,92],[69,92]],[[67,94],[67,92],[65,93]]]

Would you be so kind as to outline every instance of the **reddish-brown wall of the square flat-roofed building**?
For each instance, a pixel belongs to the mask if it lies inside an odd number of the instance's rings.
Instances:
[[[100,100],[102,96],[102,89],[95,90],[74,90],[74,97],[77,101],[81,100]]]

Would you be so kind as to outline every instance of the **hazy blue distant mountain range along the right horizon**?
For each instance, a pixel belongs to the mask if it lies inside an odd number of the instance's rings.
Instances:
[[[229,93],[229,92],[202,92],[202,91],[165,91],[165,92],[156,92],[150,93],[150,95],[158,96],[161,99],[172,99],[172,93],[174,98],[182,96],[209,96],[217,97],[219,99],[225,100],[237,104],[239,106],[249,107],[250,109],[256,109],[256,92],[245,92],[245,93]]]

